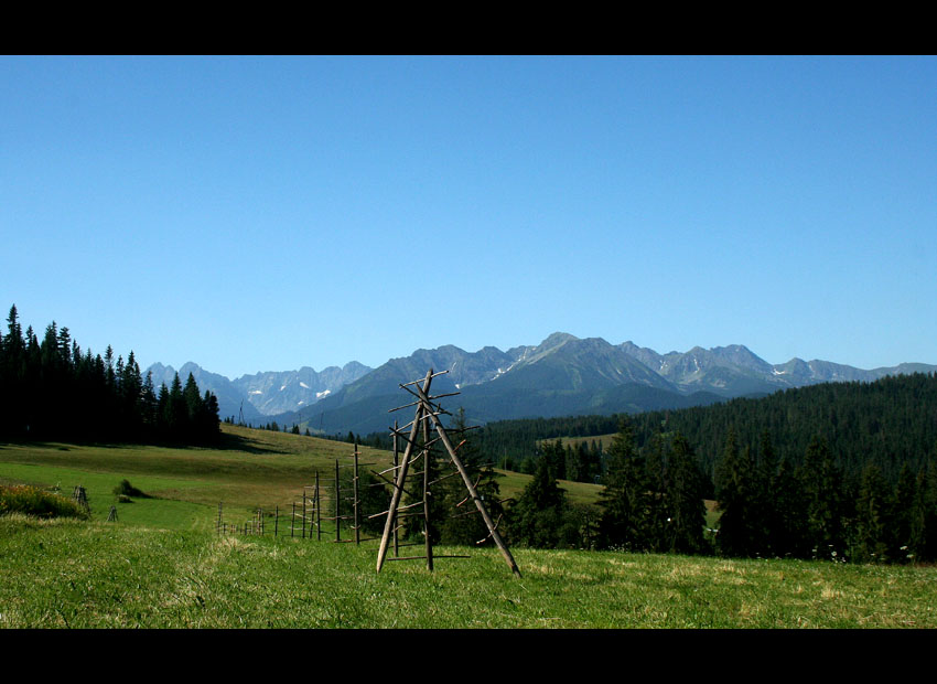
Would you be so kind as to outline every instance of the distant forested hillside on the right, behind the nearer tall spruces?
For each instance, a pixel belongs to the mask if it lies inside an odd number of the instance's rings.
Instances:
[[[525,460],[536,462],[539,458],[538,440],[608,435],[617,431],[620,418],[574,416],[489,423],[480,430],[480,446],[499,462],[508,458],[520,467]],[[631,420],[638,448],[659,432],[681,434],[710,478],[732,428],[740,448],[757,448],[767,431],[778,459],[795,466],[803,463],[808,445],[819,437],[853,481],[865,466],[874,463],[887,481],[895,482],[905,462],[918,470],[937,445],[937,374],[827,383],[757,399],[635,414]]]

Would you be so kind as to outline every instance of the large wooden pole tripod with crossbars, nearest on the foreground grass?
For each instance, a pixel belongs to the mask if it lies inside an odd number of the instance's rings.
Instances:
[[[403,484],[407,480],[407,470],[408,470],[410,463],[412,461],[417,460],[417,458],[419,458],[419,455],[416,458],[413,458],[413,450],[414,450],[414,447],[417,446],[418,435],[419,435],[420,430],[422,429],[423,441],[422,441],[421,448],[422,448],[422,451],[423,451],[423,453],[422,453],[423,457],[428,461],[430,445],[435,442],[435,441],[442,442],[443,447],[445,447],[445,450],[449,452],[450,459],[452,459],[452,463],[455,466],[455,469],[459,471],[459,474],[462,475],[462,480],[465,483],[465,488],[466,488],[466,490],[468,490],[468,496],[472,499],[472,501],[475,502],[475,506],[478,509],[478,513],[482,515],[482,519],[485,521],[485,525],[488,528],[488,533],[489,533],[491,537],[494,539],[495,544],[500,549],[502,555],[504,556],[504,558],[507,562],[508,566],[510,567],[511,571],[517,577],[520,577],[520,570],[518,569],[517,564],[514,562],[514,557],[510,555],[510,551],[508,551],[507,546],[505,545],[504,541],[502,539],[500,535],[498,534],[498,531],[495,527],[495,524],[492,522],[491,515],[488,515],[488,512],[485,509],[485,504],[482,501],[482,498],[478,495],[478,492],[476,491],[475,485],[472,483],[472,480],[468,477],[468,472],[465,470],[465,467],[463,466],[462,460],[456,455],[457,448],[453,448],[452,442],[449,439],[449,435],[446,434],[445,428],[443,427],[442,423],[439,419],[439,416],[441,414],[445,414],[446,412],[443,410],[443,408],[441,406],[439,406],[438,404],[434,404],[433,400],[439,399],[439,398],[444,397],[444,396],[454,396],[459,393],[454,392],[454,393],[450,393],[450,394],[441,394],[441,395],[438,395],[438,396],[430,396],[430,384],[432,383],[432,378],[435,377],[437,375],[443,375],[444,373],[449,373],[449,371],[442,371],[440,373],[433,373],[433,370],[430,368],[429,372],[427,373],[427,376],[423,380],[421,380],[421,381],[417,380],[417,381],[400,385],[400,387],[402,389],[406,389],[407,392],[412,394],[414,397],[417,397],[417,400],[412,402],[410,404],[407,404],[405,406],[398,406],[397,408],[391,409],[391,412],[394,412],[394,410],[399,410],[401,408],[407,408],[409,406],[416,406],[417,413],[416,413],[416,416],[413,417],[413,421],[410,423],[408,426],[403,426],[403,428],[402,428],[402,429],[406,429],[407,427],[410,428],[409,437],[405,436],[403,432],[398,430],[396,427],[394,428],[395,437],[402,437],[407,442],[407,447],[403,451],[403,457],[401,459],[401,462],[397,467],[397,478],[396,478],[396,481],[394,483],[394,493],[391,494],[391,498],[390,498],[390,507],[387,511],[387,522],[384,525],[384,535],[380,538],[380,548],[378,549],[378,554],[377,554],[377,571],[379,573],[380,568],[384,567],[384,562],[387,557],[387,546],[388,546],[388,543],[390,542],[391,534],[395,532],[395,527],[397,525],[397,512],[398,512],[398,509],[399,509],[399,505],[400,505],[401,494],[403,493]],[[412,386],[412,389],[411,389],[411,386]],[[430,426],[432,426],[432,429],[434,429],[435,432],[437,432],[437,438],[433,439],[432,441],[429,439]],[[423,478],[424,478],[424,489],[423,489],[424,494],[423,495],[424,495],[424,499],[426,499],[426,484],[427,484],[426,483],[426,473],[428,471],[429,471],[429,463],[427,463],[427,466],[423,469]],[[427,558],[427,567],[430,570],[432,570],[432,546],[430,545],[429,534],[427,534],[427,556],[426,556],[426,558]]]

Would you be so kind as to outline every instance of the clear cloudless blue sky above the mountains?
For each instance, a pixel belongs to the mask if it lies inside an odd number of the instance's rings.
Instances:
[[[0,237],[2,318],[143,367],[937,363],[937,58],[6,56]]]

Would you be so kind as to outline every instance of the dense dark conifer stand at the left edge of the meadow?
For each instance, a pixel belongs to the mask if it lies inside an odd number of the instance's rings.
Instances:
[[[25,332],[17,307],[0,333],[0,439],[77,442],[208,443],[217,439],[218,402],[190,374],[171,387],[142,377],[131,351],[83,351],[54,322],[42,340]]]

